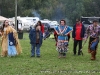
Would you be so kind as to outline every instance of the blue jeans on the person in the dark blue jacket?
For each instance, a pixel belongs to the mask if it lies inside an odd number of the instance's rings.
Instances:
[[[35,56],[35,51],[36,51],[36,55],[40,56],[40,47],[41,47],[40,44],[31,44],[31,56]]]

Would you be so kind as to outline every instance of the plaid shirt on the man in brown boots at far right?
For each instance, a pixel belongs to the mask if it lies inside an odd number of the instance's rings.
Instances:
[[[88,36],[92,38],[97,38],[100,36],[100,26],[97,25],[96,27],[92,25],[89,25],[88,28],[86,29],[85,37],[88,38]]]

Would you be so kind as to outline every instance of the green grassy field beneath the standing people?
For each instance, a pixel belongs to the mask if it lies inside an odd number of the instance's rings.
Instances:
[[[67,57],[58,59],[55,41],[48,38],[43,41],[41,57],[30,58],[31,49],[27,33],[20,43],[23,50],[20,56],[0,57],[0,75],[100,75],[100,47],[97,59],[91,61],[90,54],[87,53],[87,43],[83,48],[83,56],[73,55],[71,39]]]

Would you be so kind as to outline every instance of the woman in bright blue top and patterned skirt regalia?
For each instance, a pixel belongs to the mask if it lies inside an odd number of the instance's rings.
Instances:
[[[55,31],[58,35],[57,50],[59,53],[59,58],[66,57],[68,48],[68,34],[72,32],[72,28],[66,25],[65,20],[61,20],[60,25],[55,28]]]

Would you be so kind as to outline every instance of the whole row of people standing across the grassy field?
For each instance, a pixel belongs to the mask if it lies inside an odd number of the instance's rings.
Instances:
[[[54,28],[54,37],[59,58],[66,57],[71,33],[73,39],[73,55],[81,55],[82,41],[86,41],[89,37],[88,52],[91,53],[91,60],[95,60],[100,36],[98,21],[94,20],[91,25],[85,28],[80,19],[76,19],[73,27],[68,26],[65,20],[60,20],[60,25]],[[38,21],[35,27],[30,27],[31,57],[35,57],[35,55],[36,57],[41,56],[40,48],[44,35],[44,26],[41,21]],[[12,57],[22,53],[18,33],[13,26],[9,25],[9,21],[4,21],[0,28],[0,36],[2,38],[1,57]],[[79,45],[78,51],[76,50],[77,45]]]

